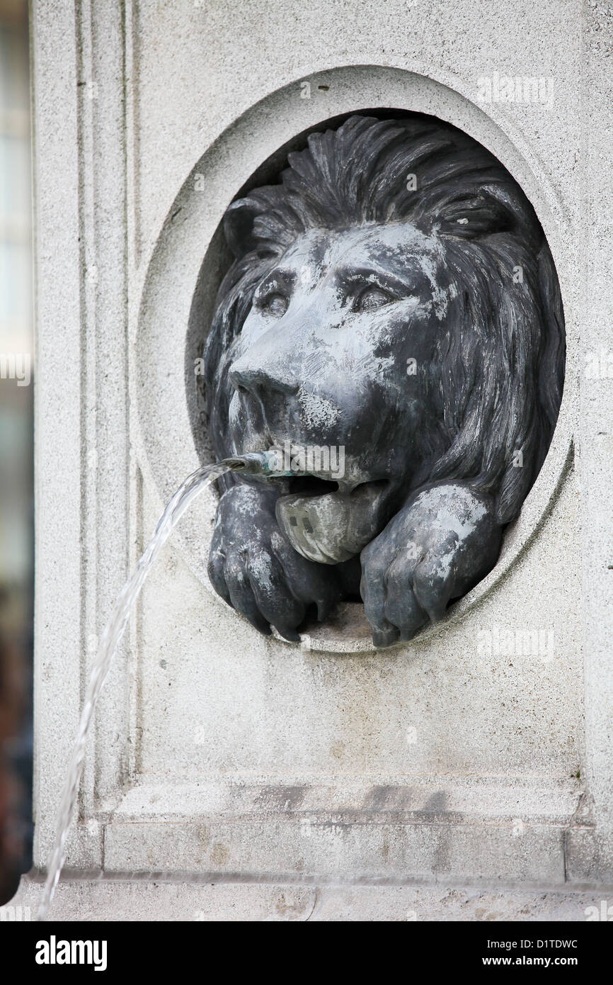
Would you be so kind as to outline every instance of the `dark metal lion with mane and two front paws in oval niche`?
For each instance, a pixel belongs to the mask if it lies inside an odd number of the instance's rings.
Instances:
[[[495,564],[556,423],[562,302],[521,188],[456,128],[356,115],[307,145],[226,212],[205,387],[218,458],[318,464],[225,481],[209,570],[287,639],[359,592],[384,646]]]

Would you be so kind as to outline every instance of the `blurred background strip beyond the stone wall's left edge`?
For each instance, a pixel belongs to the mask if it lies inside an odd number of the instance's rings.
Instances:
[[[32,384],[28,4],[0,0],[0,904],[31,867]]]

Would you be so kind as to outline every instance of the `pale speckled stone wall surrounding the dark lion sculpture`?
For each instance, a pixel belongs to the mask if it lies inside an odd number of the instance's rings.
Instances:
[[[219,913],[259,881],[613,883],[612,25],[591,0],[34,3],[37,866],[96,638],[206,454],[186,364],[215,230],[279,147],[368,108],[459,126],[532,202],[568,343],[558,427],[501,561],[410,644],[374,651],[350,607],[301,646],[259,636],[208,582],[203,497],[104,690],[63,912],[92,870],[115,887],[98,915],[129,898],[135,918],[152,873],[195,912],[199,881],[227,884]],[[355,913],[366,896],[349,897]]]

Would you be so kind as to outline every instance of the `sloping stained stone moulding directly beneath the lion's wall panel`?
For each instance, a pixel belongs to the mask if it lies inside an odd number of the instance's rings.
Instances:
[[[134,784],[110,812],[112,821],[233,821],[329,823],[410,822],[566,825],[589,821],[578,780],[546,777],[398,776],[383,774],[278,776],[235,774],[198,782],[148,778]]]

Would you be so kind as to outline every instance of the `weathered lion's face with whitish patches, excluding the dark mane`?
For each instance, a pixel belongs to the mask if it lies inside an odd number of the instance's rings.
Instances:
[[[340,478],[318,472],[337,492],[292,480],[279,500],[305,557],[356,554],[427,465],[441,418],[433,360],[454,295],[445,253],[409,223],[310,230],[257,287],[230,366],[235,451],[344,452]]]

